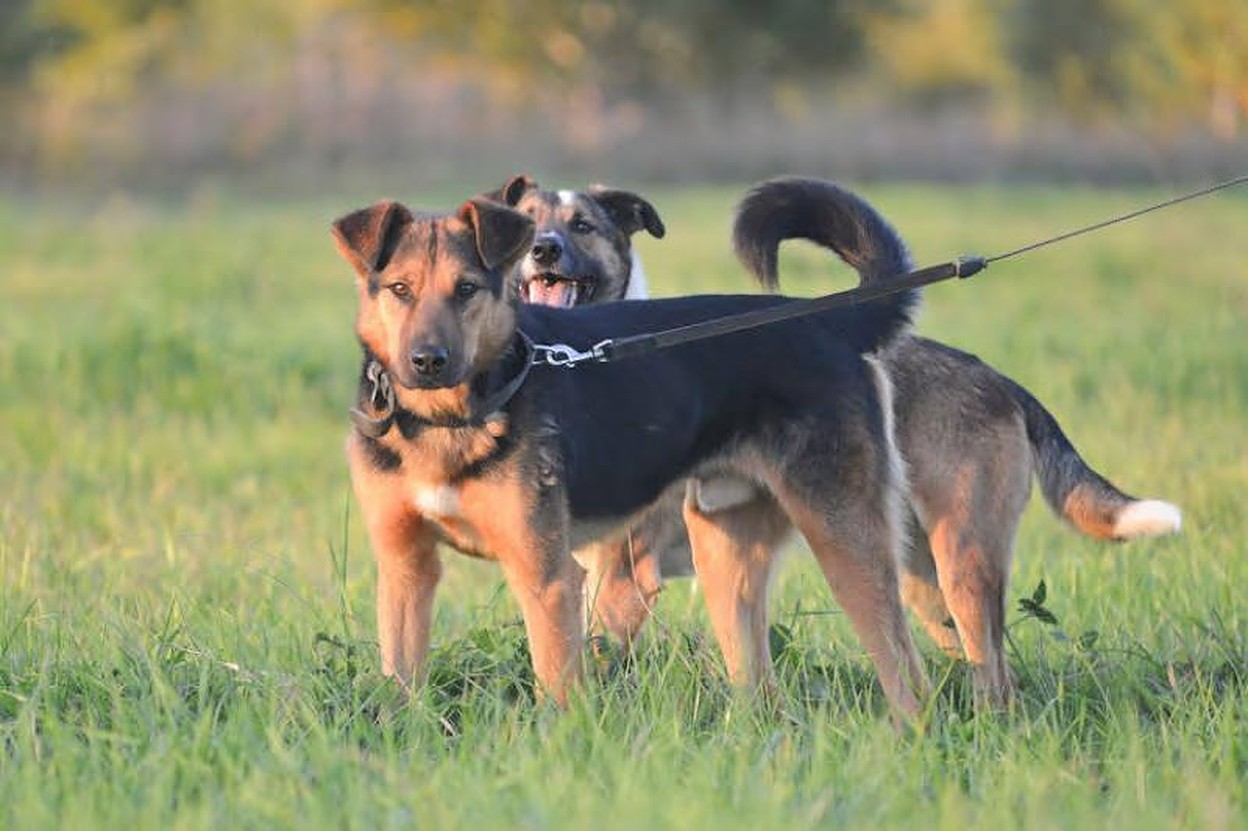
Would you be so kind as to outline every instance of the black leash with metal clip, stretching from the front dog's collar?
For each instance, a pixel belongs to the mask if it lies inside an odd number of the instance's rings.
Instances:
[[[1159,211],[1162,208],[1178,205],[1179,202],[1187,202],[1188,200],[1199,198],[1202,196],[1208,196],[1209,193],[1216,193],[1217,191],[1223,191],[1237,185],[1243,185],[1248,182],[1248,173],[1243,176],[1237,176],[1236,178],[1219,182],[1217,185],[1211,185],[1209,187],[1202,188],[1199,191],[1193,191],[1191,193],[1184,193],[1182,196],[1176,196],[1173,198],[1157,202],[1156,205],[1149,205],[1148,207],[1132,211],[1129,213],[1123,213],[1102,222],[1096,222],[1093,225],[1087,225],[1073,231],[1067,231],[1047,240],[1041,240],[1038,242],[1032,242],[1030,245],[1013,248],[1012,251],[1006,251],[1005,253],[998,253],[992,257],[980,257],[980,256],[965,256],[953,260],[952,262],[941,263],[938,266],[929,266],[927,268],[920,268],[911,271],[909,273],[901,275],[896,278],[885,279],[879,283],[871,283],[870,286],[859,286],[856,288],[850,288],[844,292],[836,292],[834,294],[824,294],[822,297],[815,297],[810,299],[795,299],[789,303],[782,303],[780,306],[771,306],[769,308],[754,309],[750,312],[743,312],[741,314],[730,314],[729,317],[720,317],[713,321],[703,321],[700,323],[690,323],[688,326],[680,326],[671,329],[664,329],[663,332],[646,332],[641,334],[630,334],[622,338],[608,338],[600,341],[592,346],[588,351],[580,351],[570,347],[565,343],[555,344],[534,344],[533,346],[533,361],[534,363],[542,363],[554,367],[574,367],[580,363],[597,362],[605,363],[608,361],[622,361],[624,358],[633,358],[648,352],[654,352],[656,349],[666,349],[668,347],[674,347],[680,343],[690,343],[693,341],[703,341],[705,338],[714,338],[721,334],[730,334],[733,332],[741,332],[744,329],[753,329],[759,326],[766,326],[769,323],[779,323],[780,321],[787,321],[795,317],[804,317],[806,314],[815,314],[819,312],[826,312],[827,309],[837,308],[840,306],[851,306],[854,303],[865,303],[867,301],[879,299],[881,297],[887,297],[889,294],[896,294],[897,292],[909,291],[911,288],[919,288],[921,286],[930,286],[931,283],[938,283],[946,279],[952,279],[955,277],[965,279],[972,277],[991,263],[1001,262],[1002,260],[1010,260],[1011,257],[1017,257],[1020,255],[1035,251],[1037,248],[1043,248],[1045,246],[1051,246],[1057,242],[1063,242],[1071,237],[1077,237],[1083,233],[1090,233],[1092,231],[1099,231],[1111,225],[1117,225],[1119,222],[1126,222],[1127,220],[1133,220],[1144,213],[1151,213],[1153,211]]]

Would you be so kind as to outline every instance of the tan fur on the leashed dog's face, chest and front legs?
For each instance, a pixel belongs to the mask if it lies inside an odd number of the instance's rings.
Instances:
[[[432,258],[411,256],[386,270],[386,286],[403,283],[411,294],[403,302],[392,291],[369,286],[368,263],[342,238],[339,250],[357,265],[359,311],[357,336],[384,366],[406,354],[413,338],[437,332],[456,351],[469,356],[472,372],[497,361],[513,326],[514,311],[505,293],[482,292],[462,311],[452,303],[456,284],[470,270],[464,253],[472,227],[451,218],[419,228],[404,241],[417,252],[437,251]],[[427,236],[441,237],[434,246]],[[414,237],[414,240],[412,238]],[[408,265],[411,263],[411,265]],[[398,403],[422,417],[467,415],[467,383],[443,389],[414,389],[396,384]],[[356,434],[347,457],[356,498],[377,559],[377,625],[382,671],[403,684],[424,678],[429,646],[433,595],[441,576],[437,542],[495,559],[503,569],[522,614],[540,690],[557,702],[567,701],[569,685],[580,676],[580,569],[567,550],[552,550],[549,540],[533,530],[530,483],[512,463],[488,479],[463,472],[488,457],[507,432],[505,420],[480,427],[423,430],[412,439],[391,429],[379,439],[401,460],[396,472],[377,469]],[[452,515],[422,513],[422,494],[442,489],[454,495]]]

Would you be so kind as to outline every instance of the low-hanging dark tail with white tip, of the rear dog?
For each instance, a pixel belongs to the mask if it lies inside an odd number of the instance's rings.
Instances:
[[[1183,517],[1161,499],[1137,499],[1088,467],[1053,414],[1005,378],[1022,408],[1041,493],[1053,513],[1096,539],[1133,539],[1178,532]]]

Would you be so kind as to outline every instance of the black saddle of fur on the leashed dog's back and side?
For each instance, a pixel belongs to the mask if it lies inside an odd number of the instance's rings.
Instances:
[[[786,298],[750,294],[574,309],[523,306],[519,326],[534,342],[587,348],[607,337],[782,302]],[[836,309],[617,363],[538,367],[517,396],[517,414],[525,423],[548,419],[559,425],[573,518],[625,517],[734,443],[782,444],[790,425],[836,424],[846,402],[876,406],[860,353],[905,327],[912,303],[914,296],[895,297],[870,311]],[[870,423],[882,422],[879,412],[865,415]],[[604,477],[603,470],[636,475]]]

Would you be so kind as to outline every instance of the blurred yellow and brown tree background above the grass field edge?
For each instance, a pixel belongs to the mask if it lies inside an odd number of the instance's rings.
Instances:
[[[1204,177],[1248,0],[2,0],[15,186]]]

